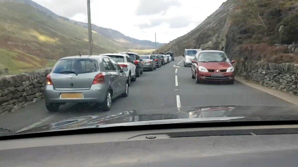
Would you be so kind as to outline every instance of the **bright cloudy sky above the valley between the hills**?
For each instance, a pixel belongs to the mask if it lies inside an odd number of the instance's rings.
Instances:
[[[87,22],[87,0],[33,0]],[[91,22],[139,40],[169,43],[193,30],[226,0],[91,0]]]

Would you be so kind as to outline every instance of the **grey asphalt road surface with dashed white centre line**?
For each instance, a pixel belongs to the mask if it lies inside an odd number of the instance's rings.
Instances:
[[[129,96],[113,100],[111,111],[102,112],[94,106],[66,104],[56,113],[50,113],[41,100],[15,112],[0,115],[0,128],[16,131],[81,116],[104,116],[127,110],[139,113],[165,109],[173,113],[180,107],[219,105],[292,105],[282,99],[235,81],[234,85],[196,84],[191,68],[183,66],[183,57],[146,71],[129,87]],[[179,63],[180,62],[180,63]],[[161,110],[162,111],[162,110]]]

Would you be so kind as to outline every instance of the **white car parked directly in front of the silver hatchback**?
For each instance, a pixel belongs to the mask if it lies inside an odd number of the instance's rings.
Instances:
[[[122,68],[127,67],[128,70],[125,72],[125,74],[128,78],[128,85],[130,85],[131,81],[136,81],[136,65],[129,58],[128,54],[107,53],[101,55],[111,57]]]

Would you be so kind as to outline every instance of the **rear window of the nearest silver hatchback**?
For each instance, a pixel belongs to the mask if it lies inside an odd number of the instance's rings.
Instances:
[[[59,74],[83,74],[98,71],[98,62],[92,59],[64,59],[56,65],[53,73]]]

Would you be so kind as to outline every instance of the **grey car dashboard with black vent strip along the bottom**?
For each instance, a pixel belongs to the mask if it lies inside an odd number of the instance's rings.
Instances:
[[[297,166],[298,125],[135,130],[0,141],[0,166]]]

